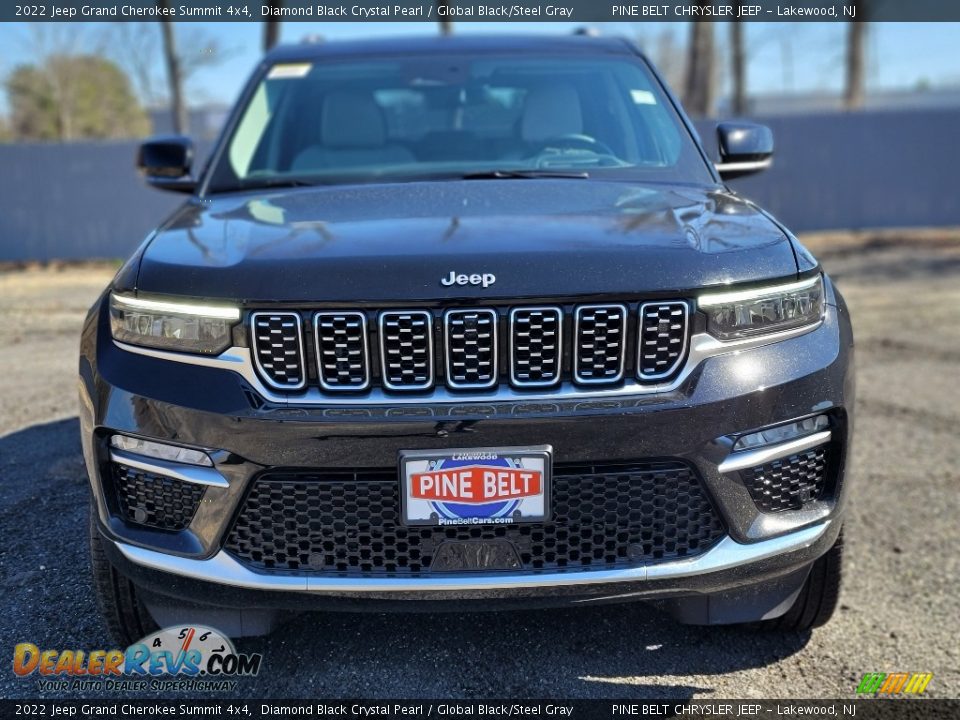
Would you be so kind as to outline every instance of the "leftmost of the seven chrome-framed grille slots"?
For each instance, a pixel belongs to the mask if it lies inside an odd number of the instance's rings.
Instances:
[[[303,329],[297,313],[253,313],[253,357],[257,369],[278,390],[299,390],[307,384]]]

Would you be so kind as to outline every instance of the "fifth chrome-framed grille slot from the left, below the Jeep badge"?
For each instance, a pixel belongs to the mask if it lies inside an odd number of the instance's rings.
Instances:
[[[547,387],[560,380],[563,312],[557,307],[510,311],[510,382]]]

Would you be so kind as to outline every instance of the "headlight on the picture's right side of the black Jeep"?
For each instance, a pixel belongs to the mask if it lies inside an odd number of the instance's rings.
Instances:
[[[718,340],[789,330],[823,317],[823,276],[789,285],[710,293],[698,298],[707,331]]]

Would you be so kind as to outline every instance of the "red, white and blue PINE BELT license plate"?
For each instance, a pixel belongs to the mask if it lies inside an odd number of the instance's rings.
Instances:
[[[550,518],[549,445],[402,450],[404,525],[508,525]]]

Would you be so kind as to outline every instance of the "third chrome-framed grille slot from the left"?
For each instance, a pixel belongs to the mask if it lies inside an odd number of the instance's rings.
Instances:
[[[383,384],[390,390],[433,385],[433,317],[423,310],[380,313]]]

